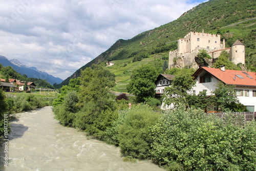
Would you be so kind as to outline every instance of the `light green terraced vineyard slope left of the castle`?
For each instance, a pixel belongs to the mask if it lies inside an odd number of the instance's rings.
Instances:
[[[137,67],[146,64],[163,65],[164,60],[168,58],[168,52],[158,53],[151,55],[149,58],[144,58],[141,61],[132,62],[133,58],[127,58],[122,60],[114,60],[114,66],[106,67],[116,75],[116,86],[112,88],[112,91],[127,93],[126,86],[131,79],[132,71]]]

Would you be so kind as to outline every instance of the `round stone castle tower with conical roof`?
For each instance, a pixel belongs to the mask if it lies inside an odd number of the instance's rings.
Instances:
[[[245,64],[245,46],[241,41],[237,40],[231,46],[229,60],[234,64]]]

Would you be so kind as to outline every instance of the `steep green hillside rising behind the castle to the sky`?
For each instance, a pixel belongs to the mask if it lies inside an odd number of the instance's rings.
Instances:
[[[131,62],[135,57],[144,54],[150,55],[150,59],[154,59],[154,55],[159,53],[164,53],[166,57],[169,51],[177,49],[176,40],[184,37],[190,31],[202,32],[202,29],[205,33],[221,34],[222,38],[226,40],[226,48],[230,47],[237,39],[242,40],[246,46],[246,65],[250,70],[256,71],[255,6],[256,2],[253,0],[211,0],[202,3],[185,12],[173,22],[140,33],[128,40],[119,39],[110,49],[81,67],[72,76],[58,84],[57,87],[68,84],[70,78],[80,76],[80,70],[90,67],[93,63],[106,61]],[[136,66],[146,63],[145,60],[137,63],[126,62],[127,71],[130,72]],[[158,61],[163,62],[162,60]],[[126,71],[125,67],[119,66],[118,69],[118,66],[111,70],[117,75],[116,79],[121,84],[127,81],[126,78],[129,74],[123,74],[122,70]]]

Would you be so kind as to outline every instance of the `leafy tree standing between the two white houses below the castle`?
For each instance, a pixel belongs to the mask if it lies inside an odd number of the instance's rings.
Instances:
[[[185,105],[188,108],[188,91],[193,88],[195,83],[196,81],[193,80],[189,72],[185,72],[185,70],[180,72],[175,76],[170,87],[165,88],[163,102],[167,105],[173,104],[175,108],[180,105]]]

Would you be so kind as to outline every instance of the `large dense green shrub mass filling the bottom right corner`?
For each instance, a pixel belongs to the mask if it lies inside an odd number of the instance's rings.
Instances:
[[[151,130],[151,157],[169,170],[255,170],[256,124],[243,129],[233,118],[223,121],[199,110],[167,112]]]

